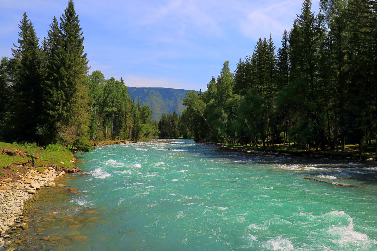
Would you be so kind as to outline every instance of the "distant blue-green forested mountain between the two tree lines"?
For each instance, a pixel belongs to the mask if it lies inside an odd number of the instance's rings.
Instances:
[[[153,111],[152,119],[159,120],[162,113],[173,113],[178,116],[185,109],[182,99],[186,97],[186,92],[192,90],[162,88],[162,87],[128,87],[131,99],[135,103],[140,100],[141,105],[149,105]]]

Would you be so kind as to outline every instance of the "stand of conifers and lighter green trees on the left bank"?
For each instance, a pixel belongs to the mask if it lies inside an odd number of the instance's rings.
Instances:
[[[149,106],[130,99],[123,79],[88,75],[74,3],[53,18],[42,43],[24,12],[12,58],[0,63],[0,141],[60,143],[90,151],[90,141],[156,137]]]

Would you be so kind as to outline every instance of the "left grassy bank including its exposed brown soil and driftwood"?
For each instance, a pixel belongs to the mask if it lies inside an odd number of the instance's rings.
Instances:
[[[23,173],[30,167],[43,168],[54,164],[63,168],[74,168],[70,161],[74,155],[61,145],[48,145],[46,148],[35,144],[10,144],[0,142],[0,180],[15,178],[15,173]]]

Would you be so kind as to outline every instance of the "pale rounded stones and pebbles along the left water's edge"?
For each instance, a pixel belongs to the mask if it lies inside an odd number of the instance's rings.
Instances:
[[[17,228],[27,229],[28,219],[23,217],[23,209],[27,201],[38,189],[57,185],[56,180],[64,172],[56,171],[54,167],[30,167],[25,173],[16,173],[17,181],[6,178],[0,181],[0,247],[12,244],[11,234]]]

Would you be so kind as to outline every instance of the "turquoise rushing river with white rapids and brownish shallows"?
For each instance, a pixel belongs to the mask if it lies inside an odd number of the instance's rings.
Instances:
[[[30,202],[24,248],[377,250],[375,163],[177,141],[78,156],[84,173],[64,181],[77,190],[44,189]]]

